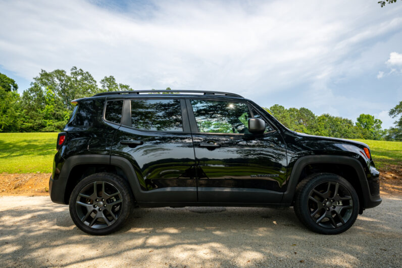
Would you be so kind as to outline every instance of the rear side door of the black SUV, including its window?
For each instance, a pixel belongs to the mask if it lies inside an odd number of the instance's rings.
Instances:
[[[194,150],[184,99],[124,101],[122,125],[112,155],[129,159],[139,202],[195,202]]]

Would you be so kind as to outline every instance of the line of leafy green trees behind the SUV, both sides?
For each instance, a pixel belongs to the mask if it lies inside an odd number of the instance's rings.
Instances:
[[[0,73],[0,132],[58,132],[72,112],[71,100],[105,91],[132,90],[116,82],[113,76],[100,80],[100,87],[89,72],[71,68],[46,72],[41,70],[22,95],[12,78]],[[265,108],[287,128],[307,134],[337,138],[402,140],[402,118],[395,127],[381,128],[381,120],[362,114],[353,121],[329,114],[316,116],[306,108],[289,108],[275,104]],[[402,114],[400,101],[389,115]]]

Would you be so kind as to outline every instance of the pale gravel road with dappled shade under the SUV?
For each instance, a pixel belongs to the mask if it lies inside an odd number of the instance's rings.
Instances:
[[[81,232],[49,197],[0,197],[0,266],[400,267],[402,199],[343,234],[310,232],[292,208],[138,208],[108,236]]]

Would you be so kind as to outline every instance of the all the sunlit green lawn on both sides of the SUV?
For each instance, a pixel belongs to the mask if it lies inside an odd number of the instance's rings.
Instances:
[[[0,173],[52,172],[57,133],[0,133]],[[376,166],[402,165],[402,142],[358,140],[370,146]]]

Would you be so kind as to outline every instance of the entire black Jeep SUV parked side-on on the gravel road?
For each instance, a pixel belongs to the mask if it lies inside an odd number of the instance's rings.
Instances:
[[[237,94],[122,91],[72,103],[49,192],[89,234],[116,231],[134,206],[293,206],[311,230],[338,234],[381,203],[366,144],[293,132]]]

